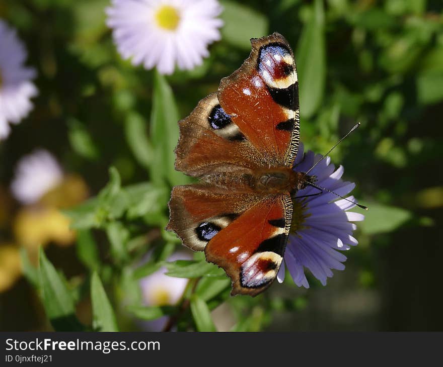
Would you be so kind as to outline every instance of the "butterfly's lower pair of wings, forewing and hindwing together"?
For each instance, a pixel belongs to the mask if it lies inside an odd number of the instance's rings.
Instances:
[[[233,282],[232,294],[255,296],[277,276],[292,215],[289,195],[217,192],[201,185],[173,189],[170,222],[183,244],[205,252]]]

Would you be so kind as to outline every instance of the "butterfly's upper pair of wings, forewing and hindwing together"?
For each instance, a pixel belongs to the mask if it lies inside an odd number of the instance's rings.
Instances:
[[[278,33],[252,39],[243,65],[180,121],[176,169],[192,176],[237,167],[292,167],[300,139],[297,69]]]

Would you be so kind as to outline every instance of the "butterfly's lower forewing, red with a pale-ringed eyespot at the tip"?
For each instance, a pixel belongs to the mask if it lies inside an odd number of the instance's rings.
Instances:
[[[269,196],[221,229],[205,246],[206,260],[223,267],[232,295],[255,296],[275,280],[292,216],[289,195]]]

